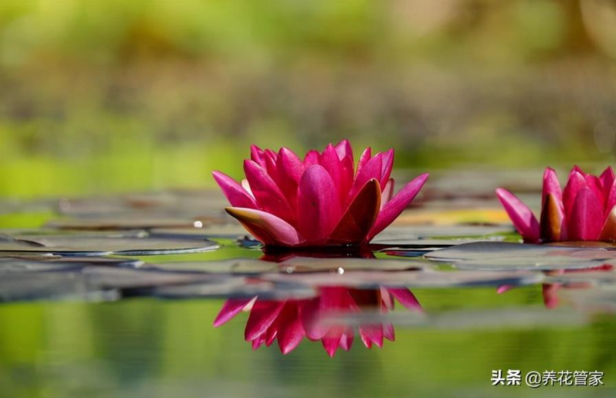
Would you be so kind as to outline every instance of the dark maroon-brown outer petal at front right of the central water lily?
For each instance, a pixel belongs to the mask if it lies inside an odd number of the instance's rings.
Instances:
[[[371,179],[355,196],[340,222],[329,235],[329,243],[362,243],[377,220],[381,208],[379,181]]]

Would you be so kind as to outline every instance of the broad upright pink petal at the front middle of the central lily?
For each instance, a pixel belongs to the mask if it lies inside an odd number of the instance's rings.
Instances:
[[[338,192],[318,164],[307,168],[298,189],[298,230],[307,241],[325,241],[340,220]]]

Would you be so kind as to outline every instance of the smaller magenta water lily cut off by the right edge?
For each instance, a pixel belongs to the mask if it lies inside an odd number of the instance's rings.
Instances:
[[[496,195],[525,242],[616,241],[616,179],[611,167],[597,177],[574,166],[564,190],[555,171],[546,168],[540,221],[508,190],[498,188]]]

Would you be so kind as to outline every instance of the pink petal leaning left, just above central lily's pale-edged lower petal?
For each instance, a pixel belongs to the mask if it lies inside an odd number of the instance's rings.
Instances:
[[[250,184],[256,203],[261,210],[274,214],[287,223],[294,223],[295,214],[289,206],[287,199],[276,185],[272,177],[263,167],[251,160],[244,162],[244,172]]]

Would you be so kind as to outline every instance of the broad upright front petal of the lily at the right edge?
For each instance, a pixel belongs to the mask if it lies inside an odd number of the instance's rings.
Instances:
[[[577,193],[571,215],[567,222],[567,234],[571,241],[595,241],[603,224],[603,210],[590,188]]]

